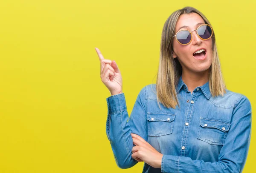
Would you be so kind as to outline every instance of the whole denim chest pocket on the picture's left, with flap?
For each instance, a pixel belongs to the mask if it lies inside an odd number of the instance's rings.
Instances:
[[[148,136],[162,136],[172,133],[176,113],[148,112]]]

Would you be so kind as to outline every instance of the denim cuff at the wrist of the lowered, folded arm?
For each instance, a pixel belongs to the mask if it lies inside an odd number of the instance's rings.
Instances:
[[[172,156],[164,154],[161,163],[162,173],[178,173],[180,156]]]

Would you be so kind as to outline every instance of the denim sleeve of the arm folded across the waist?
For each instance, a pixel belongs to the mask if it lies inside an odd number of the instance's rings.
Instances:
[[[204,162],[184,156],[163,155],[161,172],[241,173],[250,145],[251,121],[250,101],[242,95],[233,108],[230,130],[220,150],[218,162]]]

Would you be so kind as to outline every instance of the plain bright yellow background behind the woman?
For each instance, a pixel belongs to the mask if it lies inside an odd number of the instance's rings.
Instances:
[[[130,114],[156,81],[163,24],[184,6],[207,16],[227,88],[254,110],[254,0],[1,0],[0,173],[141,173],[143,162],[116,166],[94,47],[119,65]],[[254,132],[244,173],[255,170]]]

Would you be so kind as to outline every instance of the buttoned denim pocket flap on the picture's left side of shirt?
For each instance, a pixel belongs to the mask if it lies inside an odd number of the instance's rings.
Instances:
[[[172,122],[175,119],[176,113],[170,112],[148,112],[148,121],[166,121]]]

